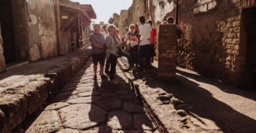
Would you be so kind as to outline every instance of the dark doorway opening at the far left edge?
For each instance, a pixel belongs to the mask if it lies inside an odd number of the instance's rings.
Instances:
[[[12,4],[10,0],[0,1],[0,23],[3,37],[3,55],[5,56],[5,63],[8,64],[16,61],[12,23]]]

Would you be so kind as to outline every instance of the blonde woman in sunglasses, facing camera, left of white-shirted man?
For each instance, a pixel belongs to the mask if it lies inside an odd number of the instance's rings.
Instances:
[[[130,25],[130,32],[126,35],[126,40],[128,40],[127,44],[130,44],[130,56],[132,58],[132,65],[138,65],[138,50],[139,50],[139,39],[134,34],[135,25]]]

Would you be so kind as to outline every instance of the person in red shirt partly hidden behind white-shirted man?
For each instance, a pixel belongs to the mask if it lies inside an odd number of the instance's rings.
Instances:
[[[153,22],[152,20],[147,20],[147,24],[152,27],[152,30],[150,31],[150,49],[151,49],[151,58],[150,61],[153,63],[154,62],[154,57],[156,56],[155,48],[156,48],[156,29],[153,27]]]

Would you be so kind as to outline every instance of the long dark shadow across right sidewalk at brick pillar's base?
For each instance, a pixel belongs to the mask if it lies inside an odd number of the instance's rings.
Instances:
[[[167,93],[173,94],[180,101],[172,102],[175,110],[184,110],[186,114],[194,117],[203,125],[205,123],[200,117],[214,121],[223,132],[256,132],[255,119],[216,100],[210,91],[184,76],[177,75],[177,80],[174,83],[163,82],[150,73],[137,76],[137,78],[141,77],[149,87],[160,87]]]

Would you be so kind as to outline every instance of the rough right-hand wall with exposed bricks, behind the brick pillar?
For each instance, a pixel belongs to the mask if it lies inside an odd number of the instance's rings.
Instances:
[[[184,37],[179,40],[178,63],[201,74],[236,83],[244,65],[237,60],[244,56],[240,53],[241,10],[236,1],[199,2],[184,1],[180,5]]]

